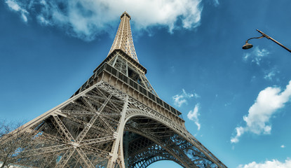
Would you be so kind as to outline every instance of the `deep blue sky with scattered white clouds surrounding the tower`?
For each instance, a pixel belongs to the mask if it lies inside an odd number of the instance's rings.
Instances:
[[[131,16],[147,78],[228,167],[291,167],[291,1],[0,2],[0,118],[29,121],[65,102]],[[156,162],[151,167],[179,167]]]

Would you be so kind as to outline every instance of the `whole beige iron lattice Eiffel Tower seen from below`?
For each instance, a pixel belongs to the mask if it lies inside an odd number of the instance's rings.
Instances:
[[[38,143],[19,165],[141,168],[172,160],[181,167],[226,167],[147,80],[128,13],[121,15],[109,54],[93,72],[70,99],[20,127]]]

